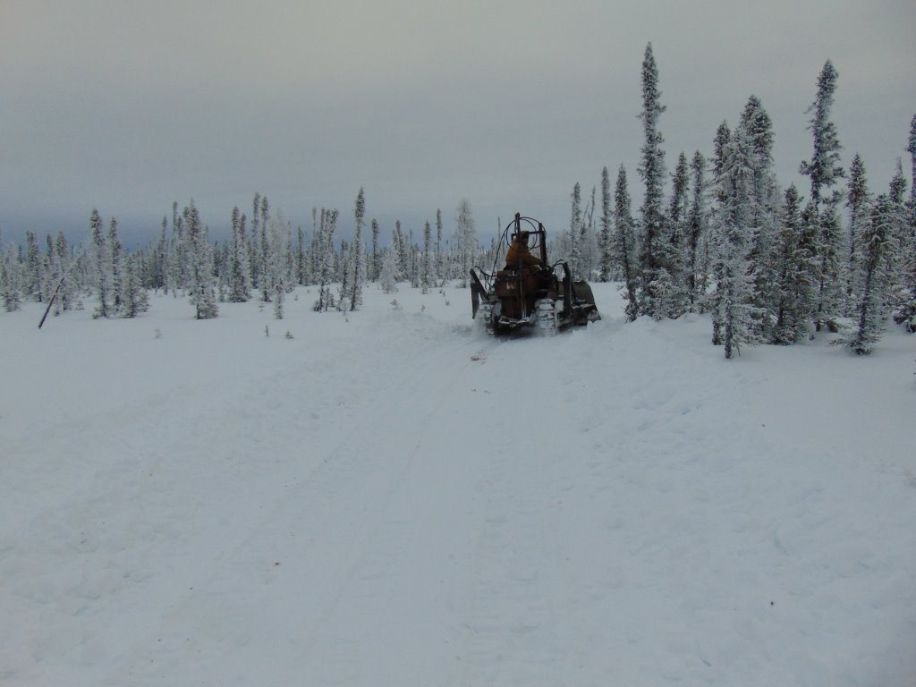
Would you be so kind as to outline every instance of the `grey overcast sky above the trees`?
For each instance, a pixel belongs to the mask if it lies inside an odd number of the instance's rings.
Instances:
[[[0,0],[0,232],[79,242],[96,207],[145,244],[193,199],[219,234],[255,191],[345,230],[360,187],[385,234],[437,208],[451,233],[463,198],[482,238],[517,210],[559,231],[605,166],[639,194],[649,41],[669,171],[754,93],[806,193],[830,59],[843,162],[884,191],[910,176],[914,36],[912,0]]]

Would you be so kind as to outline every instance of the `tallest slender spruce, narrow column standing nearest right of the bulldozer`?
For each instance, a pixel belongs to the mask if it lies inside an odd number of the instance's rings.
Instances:
[[[665,152],[661,149],[664,137],[659,130],[659,118],[665,107],[660,100],[659,70],[652,53],[652,44],[649,43],[642,62],[642,112],[639,114],[645,142],[641,149],[638,172],[646,187],[640,208],[639,313],[657,320],[668,314],[662,310],[659,300],[671,290],[671,276],[666,265],[668,252],[663,235]]]

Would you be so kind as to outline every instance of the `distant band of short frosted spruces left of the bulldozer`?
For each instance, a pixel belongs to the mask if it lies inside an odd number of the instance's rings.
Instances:
[[[38,235],[26,233],[25,247],[0,246],[0,300],[5,311],[23,300],[49,303],[52,312],[84,308],[95,300],[93,316],[136,317],[148,308],[148,291],[187,297],[194,317],[219,314],[220,302],[260,300],[273,304],[283,317],[283,303],[297,286],[317,286],[316,311],[358,310],[367,282],[387,291],[398,282],[428,292],[446,280],[466,286],[470,267],[495,255],[477,245],[474,216],[468,201],[456,211],[450,236],[443,236],[442,212],[435,225],[427,222],[416,240],[400,222],[382,244],[382,228],[373,219],[365,226],[365,193],[354,202],[354,236],[336,240],[340,213],[312,210],[312,227],[293,230],[282,213],[271,213],[266,195],[255,193],[250,215],[233,208],[228,239],[211,244],[194,202],[162,219],[158,241],[129,253],[113,217],[107,223],[93,210],[90,245],[75,249],[64,234],[48,235],[42,248]],[[364,238],[364,232],[368,234]]]

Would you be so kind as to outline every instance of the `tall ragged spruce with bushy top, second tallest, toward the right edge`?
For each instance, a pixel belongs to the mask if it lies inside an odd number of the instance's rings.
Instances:
[[[805,213],[805,221],[812,224],[811,232],[817,237],[817,304],[812,314],[818,332],[824,325],[832,332],[839,329],[836,318],[844,311],[845,300],[844,236],[837,213],[843,193],[831,191],[831,187],[845,177],[845,170],[840,165],[842,146],[830,119],[838,77],[833,63],[827,60],[818,76],[817,96],[808,108],[812,115],[808,128],[812,132],[814,150],[811,161],[802,161],[800,168],[801,173],[811,179],[812,208]]]

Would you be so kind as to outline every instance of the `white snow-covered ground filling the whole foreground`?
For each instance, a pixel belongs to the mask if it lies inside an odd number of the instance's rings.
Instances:
[[[916,684],[916,337],[725,361],[594,291],[0,315],[0,682]]]

